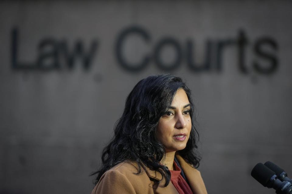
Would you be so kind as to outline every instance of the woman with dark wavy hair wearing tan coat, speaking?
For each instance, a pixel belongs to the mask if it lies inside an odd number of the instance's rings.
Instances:
[[[103,150],[96,193],[207,193],[196,155],[190,90],[174,75],[151,75],[127,97]]]

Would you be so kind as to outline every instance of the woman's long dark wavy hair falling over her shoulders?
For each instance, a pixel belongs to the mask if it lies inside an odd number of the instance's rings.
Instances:
[[[161,173],[162,179],[166,179],[165,186],[169,184],[169,169],[160,163],[165,158],[165,148],[156,139],[155,132],[160,117],[171,105],[178,89],[184,89],[189,99],[192,130],[186,148],[177,152],[194,168],[199,166],[200,157],[196,154],[199,134],[194,125],[194,106],[189,88],[178,76],[151,75],[140,80],[128,95],[123,115],[114,127],[114,137],[103,149],[102,166],[91,174],[96,175],[95,184],[103,173],[127,160],[137,163],[137,174],[141,173],[141,167],[144,170],[148,167]]]

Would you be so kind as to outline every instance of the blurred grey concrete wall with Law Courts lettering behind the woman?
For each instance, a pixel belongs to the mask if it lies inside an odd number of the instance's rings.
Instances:
[[[210,194],[292,175],[291,1],[0,1],[0,193],[91,193],[125,99],[148,75],[193,92]]]

